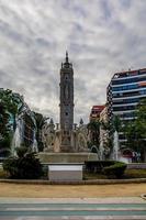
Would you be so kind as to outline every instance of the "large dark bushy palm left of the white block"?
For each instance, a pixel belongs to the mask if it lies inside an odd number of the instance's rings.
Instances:
[[[40,160],[35,157],[34,152],[25,146],[16,148],[18,157],[9,157],[3,163],[3,169],[10,178],[16,179],[36,179],[43,175],[43,168]]]

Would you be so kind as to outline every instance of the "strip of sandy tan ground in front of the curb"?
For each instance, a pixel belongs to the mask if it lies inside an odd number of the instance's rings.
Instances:
[[[142,194],[146,194],[146,184],[35,185],[0,183],[0,197],[96,198],[139,197]]]

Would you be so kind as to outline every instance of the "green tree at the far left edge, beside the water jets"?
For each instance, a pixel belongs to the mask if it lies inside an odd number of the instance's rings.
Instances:
[[[11,125],[9,123],[10,116],[15,116],[18,106],[11,90],[0,90],[0,156],[10,154],[11,144]]]

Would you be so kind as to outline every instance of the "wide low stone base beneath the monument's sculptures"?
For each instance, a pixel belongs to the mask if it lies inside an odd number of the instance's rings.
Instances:
[[[38,153],[41,163],[85,163],[86,161],[98,161],[96,153],[80,152],[80,153]]]

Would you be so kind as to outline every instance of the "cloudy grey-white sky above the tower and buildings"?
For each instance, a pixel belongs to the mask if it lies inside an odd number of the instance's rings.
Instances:
[[[146,67],[146,0],[0,0],[0,88],[55,122],[66,51],[75,122],[87,123],[114,73]]]

